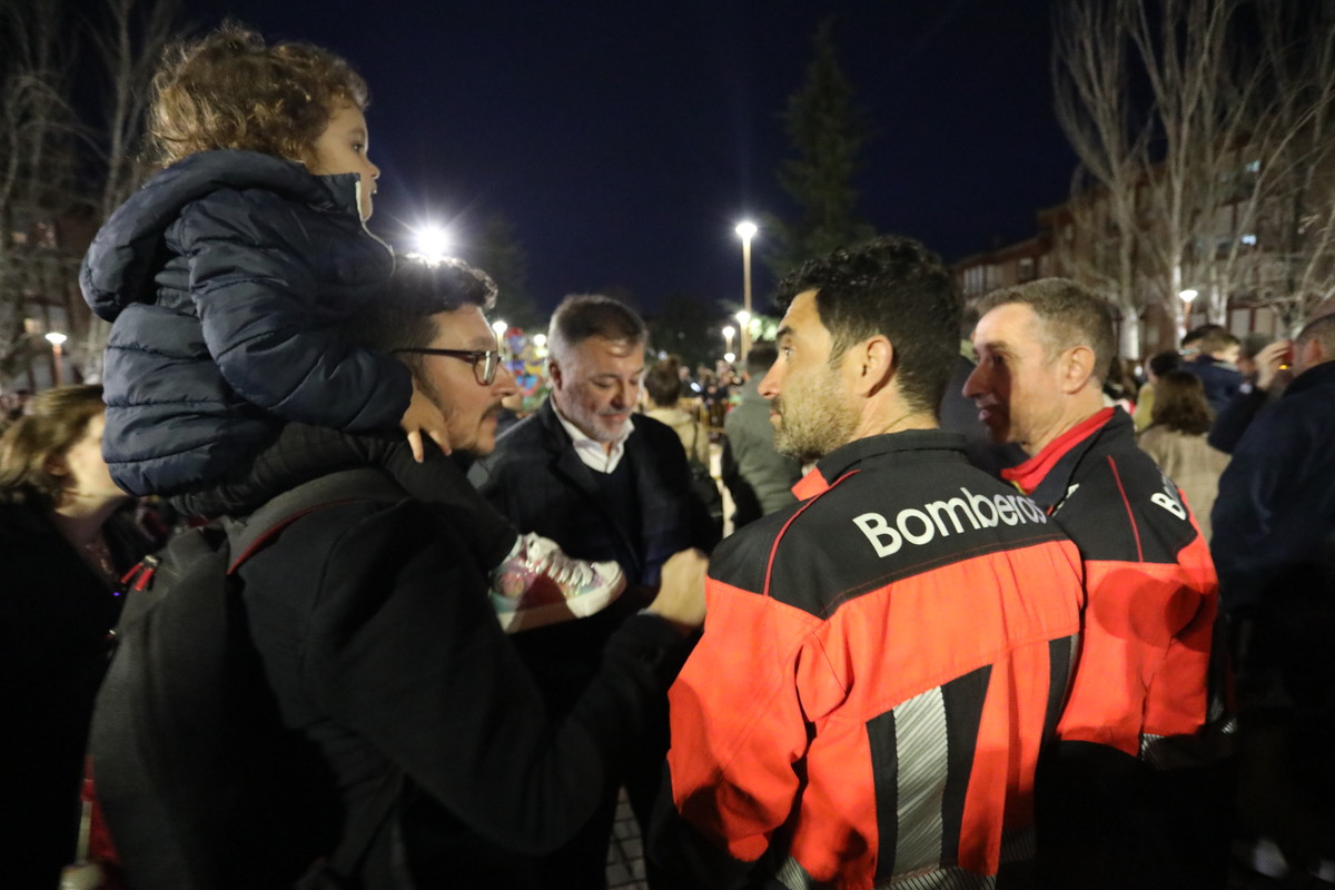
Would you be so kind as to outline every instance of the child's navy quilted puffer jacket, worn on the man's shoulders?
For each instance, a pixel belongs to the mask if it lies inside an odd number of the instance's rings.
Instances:
[[[336,326],[392,272],[362,226],[355,173],[270,155],[192,155],[112,213],[84,258],[84,299],[112,323],[103,454],[125,491],[216,480],[286,420],[392,428],[405,366]]]

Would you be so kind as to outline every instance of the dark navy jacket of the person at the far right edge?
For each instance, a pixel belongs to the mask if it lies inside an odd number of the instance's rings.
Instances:
[[[1219,479],[1211,550],[1224,606],[1315,559],[1335,535],[1335,362],[1298,375],[1247,428]]]

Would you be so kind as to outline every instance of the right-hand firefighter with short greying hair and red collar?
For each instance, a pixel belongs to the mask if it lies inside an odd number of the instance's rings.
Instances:
[[[1031,456],[1003,478],[1080,548],[1088,603],[1060,743],[1040,777],[1044,886],[1223,886],[1226,811],[1192,790],[1219,586],[1177,487],[1105,408],[1107,304],[1044,279],[988,295],[964,392],[997,442]],[[1214,814],[1214,815],[1212,815]]]

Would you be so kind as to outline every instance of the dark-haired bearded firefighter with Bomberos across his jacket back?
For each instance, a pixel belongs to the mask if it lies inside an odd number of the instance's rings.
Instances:
[[[960,302],[934,256],[881,239],[784,290],[760,391],[776,444],[820,462],[710,560],[655,887],[1027,886],[1079,552],[936,428]]]

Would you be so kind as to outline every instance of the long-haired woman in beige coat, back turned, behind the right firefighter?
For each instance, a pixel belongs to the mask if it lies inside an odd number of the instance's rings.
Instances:
[[[1168,371],[1155,384],[1155,408],[1149,428],[1140,434],[1140,448],[1187,496],[1200,534],[1210,540],[1210,511],[1219,494],[1219,475],[1228,455],[1206,443],[1214,416],[1200,378]]]

